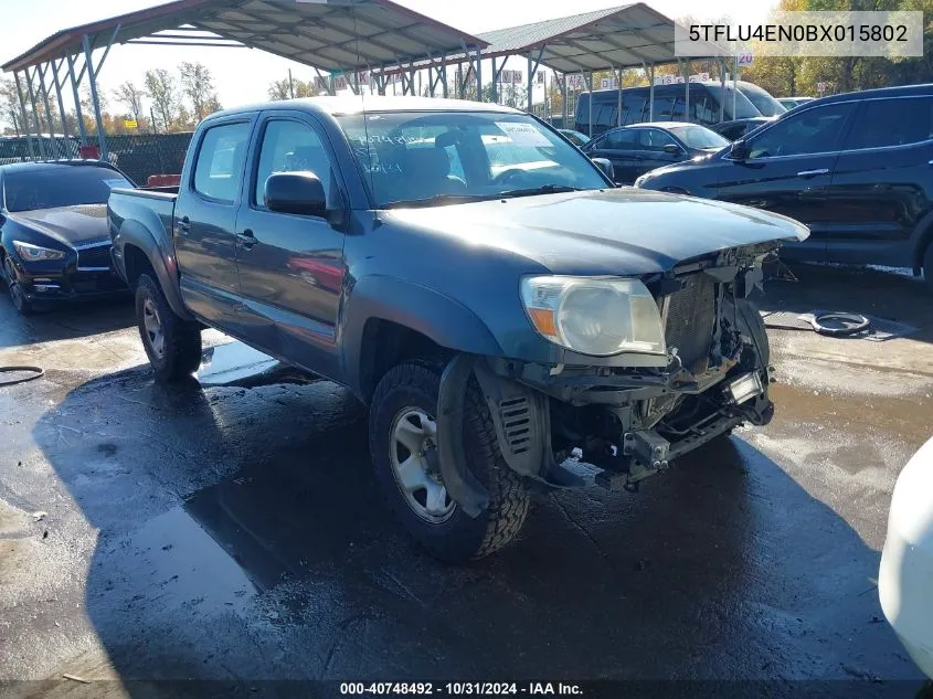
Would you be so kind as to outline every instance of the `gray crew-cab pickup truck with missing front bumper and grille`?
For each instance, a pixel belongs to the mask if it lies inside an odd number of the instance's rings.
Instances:
[[[477,558],[531,488],[591,483],[574,462],[634,489],[772,416],[748,297],[807,230],[609,169],[498,105],[241,108],[199,126],[177,191],[113,192],[114,263],[157,380],[197,370],[211,326],[343,384],[405,528]]]

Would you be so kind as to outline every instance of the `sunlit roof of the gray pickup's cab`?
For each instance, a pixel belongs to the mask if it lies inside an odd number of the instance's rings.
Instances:
[[[485,102],[468,102],[465,99],[443,99],[436,97],[395,97],[367,96],[362,97],[304,97],[300,99],[284,99],[262,104],[236,107],[219,113],[219,115],[243,114],[266,109],[307,109],[318,114],[332,116],[343,114],[361,114],[365,112],[499,112],[506,114],[524,114],[520,109],[512,109],[503,105]]]

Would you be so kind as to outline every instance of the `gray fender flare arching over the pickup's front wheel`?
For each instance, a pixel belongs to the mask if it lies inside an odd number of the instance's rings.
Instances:
[[[501,357],[489,328],[459,301],[413,282],[372,275],[357,280],[341,310],[340,342],[348,385],[362,394],[363,331],[373,318],[420,332],[436,345],[458,352]]]

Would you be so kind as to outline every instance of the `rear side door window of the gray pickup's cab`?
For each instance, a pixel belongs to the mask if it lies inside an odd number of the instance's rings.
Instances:
[[[250,128],[250,123],[240,121],[213,126],[205,131],[194,163],[194,191],[216,201],[236,201]]]

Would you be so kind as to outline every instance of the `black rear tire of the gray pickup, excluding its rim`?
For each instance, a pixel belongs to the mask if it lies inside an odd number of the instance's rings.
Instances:
[[[144,325],[147,300],[156,306],[165,335],[165,350],[159,357],[149,340]],[[159,284],[149,275],[140,275],[136,283],[136,321],[152,373],[159,383],[181,381],[191,377],[201,366],[201,330],[197,322],[179,318],[166,300]]]

